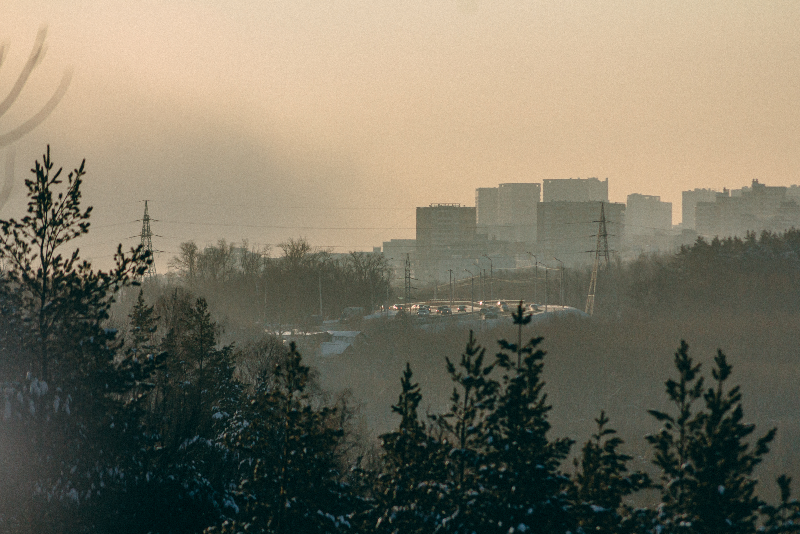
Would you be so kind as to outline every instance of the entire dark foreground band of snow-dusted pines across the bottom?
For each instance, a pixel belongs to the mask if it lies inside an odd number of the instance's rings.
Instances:
[[[490,355],[470,334],[444,359],[444,412],[421,413],[406,366],[398,426],[370,446],[350,397],[322,391],[294,345],[221,345],[206,299],[186,289],[152,305],[140,291],[124,334],[110,327],[115,295],[151,259],[118,247],[96,271],[62,255],[89,231],[84,164],[63,178],[48,148],[33,172],[27,215],[0,221],[4,532],[800,530],[789,477],[780,502],[758,497],[754,468],[776,430],[745,423],[722,351],[708,382],[686,343],[675,352],[673,408],[650,411],[652,479],[604,412],[570,467],[522,307],[515,342]],[[635,507],[639,492],[652,504]]]

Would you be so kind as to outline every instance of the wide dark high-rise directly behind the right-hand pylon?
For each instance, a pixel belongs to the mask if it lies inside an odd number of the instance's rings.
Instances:
[[[590,261],[587,251],[597,244],[599,202],[542,202],[537,212],[537,250],[544,257],[556,256],[566,263]],[[622,251],[625,235],[625,204],[604,203],[606,231],[611,250]],[[591,255],[594,258],[594,255]]]

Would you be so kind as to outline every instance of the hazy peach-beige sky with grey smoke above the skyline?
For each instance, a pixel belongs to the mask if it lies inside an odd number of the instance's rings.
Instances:
[[[144,199],[164,271],[182,239],[413,238],[407,208],[504,182],[608,177],[612,201],[661,195],[674,223],[687,188],[800,183],[796,0],[0,0],[0,98],[42,23],[0,133],[74,78],[14,144],[0,217],[46,143],[64,167],[86,158],[80,246],[103,265],[135,244]]]

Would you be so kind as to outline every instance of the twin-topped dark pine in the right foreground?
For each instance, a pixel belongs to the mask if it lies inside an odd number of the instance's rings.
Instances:
[[[675,353],[680,378],[666,381],[667,395],[678,408],[678,417],[649,410],[663,428],[647,436],[656,450],[654,464],[662,469],[661,520],[665,528],[692,532],[755,532],[762,502],[755,495],[757,480],[753,469],[769,452],[775,429],[756,440],[750,448],[744,440],[755,430],[742,423],[742,394],[739,387],[725,391],[732,367],[718,351],[712,370],[715,387],[703,391],[686,342]],[[700,399],[705,409],[692,413]]]

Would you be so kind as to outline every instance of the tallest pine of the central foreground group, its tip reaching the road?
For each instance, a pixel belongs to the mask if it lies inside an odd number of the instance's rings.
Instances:
[[[530,320],[519,306],[514,321],[520,329],[526,319]],[[502,389],[482,426],[486,452],[478,473],[483,488],[478,496],[481,532],[566,532],[573,527],[567,512],[569,478],[559,466],[574,442],[546,436],[551,407],[542,393],[541,342],[541,337],[522,346],[498,341],[502,350],[494,367],[502,370]]]

